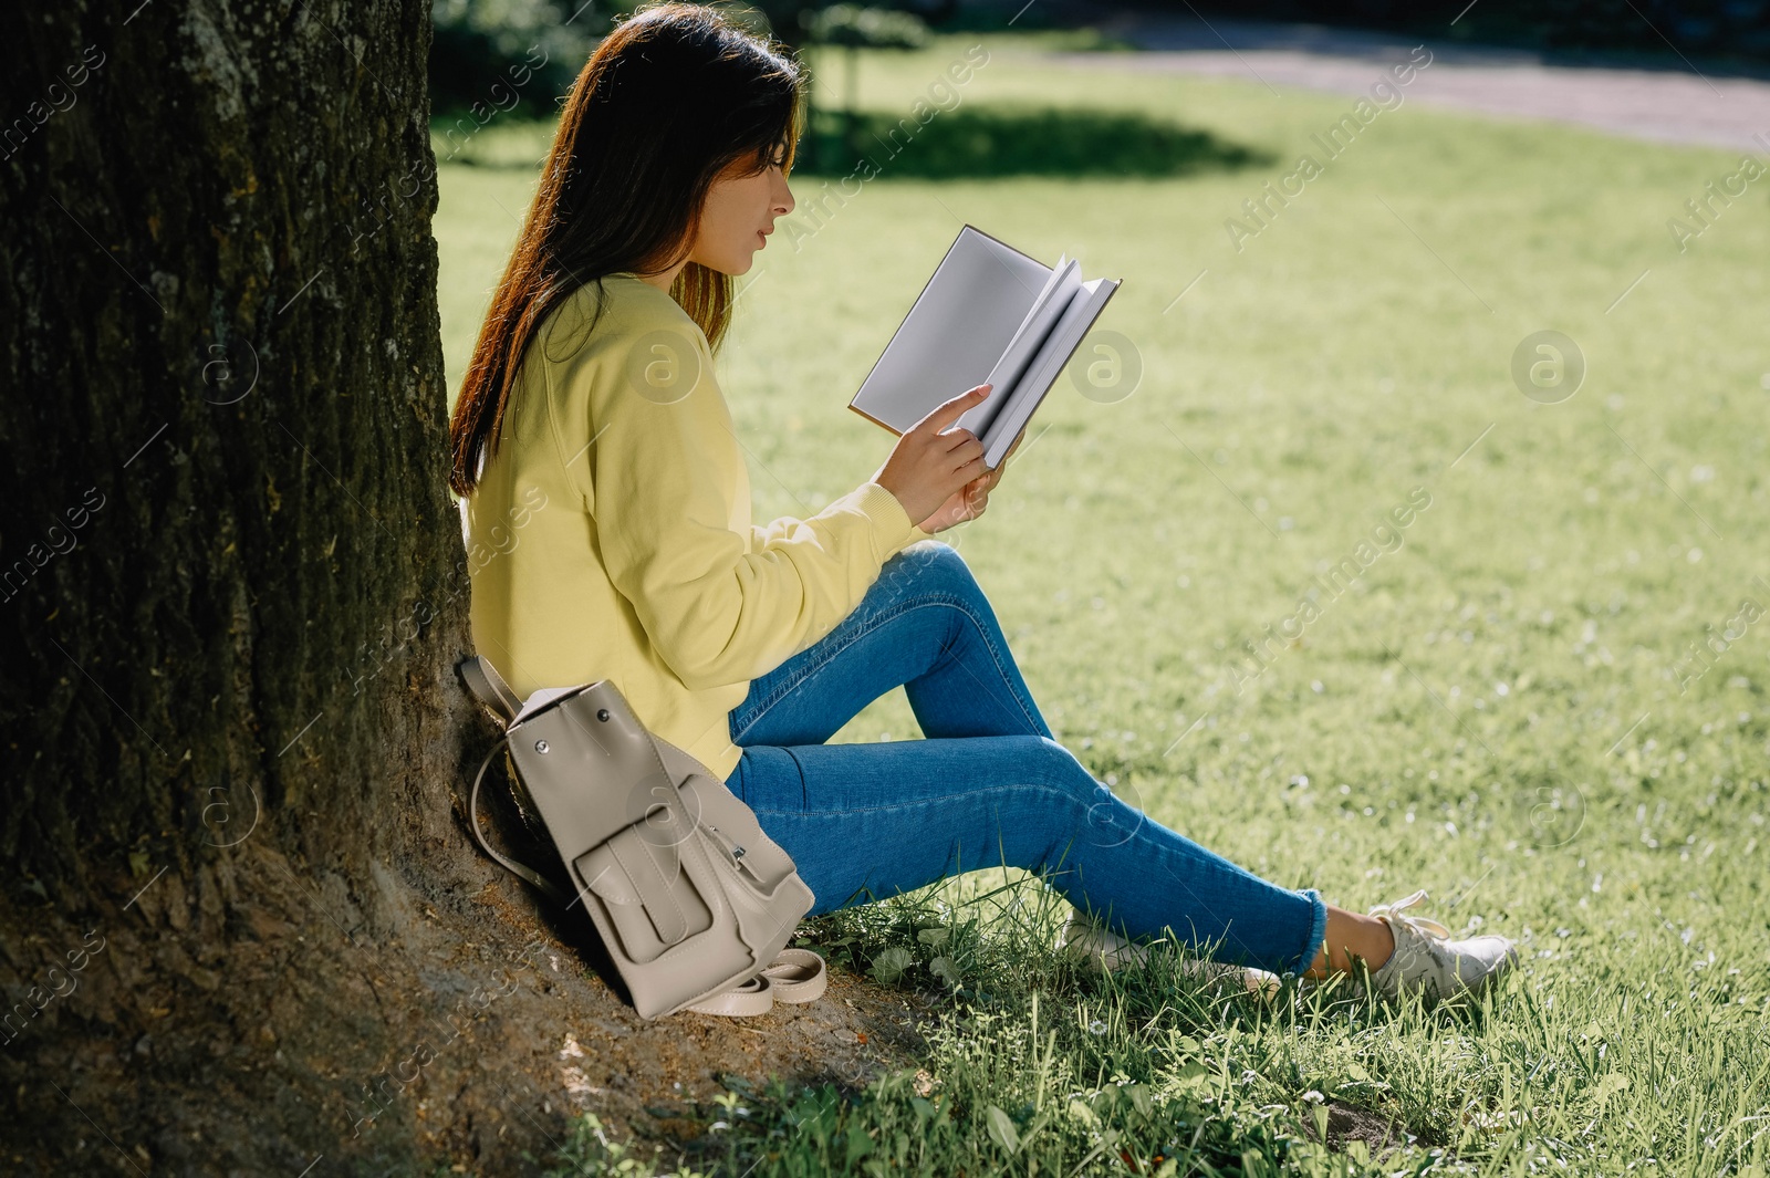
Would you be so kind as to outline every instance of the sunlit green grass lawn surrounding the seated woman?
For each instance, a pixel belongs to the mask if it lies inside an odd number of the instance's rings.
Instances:
[[[1225,219],[1299,152],[1322,159],[1310,134],[1352,99],[984,42],[959,87],[972,117],[1074,106],[1281,163],[935,182],[885,161],[818,219],[825,177],[798,179],[798,230],[759,255],[722,357],[756,518],[812,513],[883,460],[846,402],[961,223],[1122,278],[1101,327],[1140,357],[1136,391],[1103,403],[1066,377],[989,513],[942,536],[1058,739],[1278,883],[1352,907],[1425,886],[1455,930],[1519,939],[1524,966],[1490,1012],[1287,996],[1267,1014],[1159,962],[1076,976],[1041,948],[1058,913],[1030,881],[981,874],[945,911],[920,897],[809,929],[885,976],[908,955],[896,985],[958,978],[924,1065],[938,1086],[738,1091],[749,1116],[704,1111],[729,1128],[703,1167],[1122,1173],[1122,1148],[1145,1173],[1156,1153],[1179,1173],[1763,1173],[1770,619],[1694,681],[1674,667],[1743,600],[1770,607],[1770,179],[1680,253],[1667,218],[1736,156],[1409,101],[1235,251]],[[908,115],[966,44],[869,57],[864,106]],[[480,138],[487,163],[520,163],[545,129]],[[451,386],[529,182],[442,172]],[[1540,329],[1588,363],[1554,405],[1510,377]],[[1416,488],[1430,506],[1402,547],[1237,676],[1243,644]],[[901,692],[835,739],[885,734],[917,734]],[[1004,881],[1012,916],[991,914],[1000,895],[958,902]],[[936,927],[966,950],[947,978],[926,943],[942,934],[919,937]],[[1308,1093],[1416,1141],[1329,1157]],[[588,1141],[572,1173],[612,1167]]]

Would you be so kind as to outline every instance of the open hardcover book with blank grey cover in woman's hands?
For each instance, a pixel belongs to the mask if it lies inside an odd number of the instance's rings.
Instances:
[[[1117,288],[1117,278],[1081,281],[1073,258],[1050,267],[966,225],[848,407],[903,433],[988,384],[956,425],[993,470]]]

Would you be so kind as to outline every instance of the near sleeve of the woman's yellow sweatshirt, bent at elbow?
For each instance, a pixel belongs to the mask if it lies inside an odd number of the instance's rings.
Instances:
[[[754,679],[814,644],[892,554],[927,532],[878,483],[811,518],[754,529],[749,504],[735,502],[743,453],[706,340],[692,334],[687,366],[697,371],[683,396],[625,379],[644,371],[632,356],[644,336],[612,343],[584,373],[596,439],[588,499],[609,580],[683,685],[706,690]]]

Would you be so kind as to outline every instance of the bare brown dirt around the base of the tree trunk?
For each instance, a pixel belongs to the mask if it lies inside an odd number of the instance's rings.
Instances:
[[[646,1022],[595,971],[588,920],[437,851],[421,883],[373,863],[352,888],[255,842],[96,920],[80,991],[0,1058],[0,1169],[527,1176],[582,1111],[650,1153],[701,1132],[690,1102],[720,1077],[857,1090],[915,1065],[927,999],[846,973],[756,1019]],[[81,932],[0,925],[18,976]]]

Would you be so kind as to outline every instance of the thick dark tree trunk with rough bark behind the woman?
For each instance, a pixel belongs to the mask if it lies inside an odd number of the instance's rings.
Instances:
[[[522,945],[462,934],[430,4],[136,4],[0,48],[0,1169],[409,1173]]]

